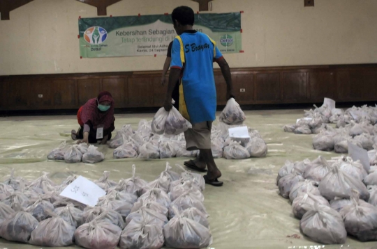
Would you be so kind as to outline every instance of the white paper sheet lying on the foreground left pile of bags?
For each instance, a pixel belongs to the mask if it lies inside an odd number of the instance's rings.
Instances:
[[[106,192],[94,182],[80,175],[75,181],[64,188],[64,191],[60,195],[94,207],[98,203],[98,198],[106,195]]]

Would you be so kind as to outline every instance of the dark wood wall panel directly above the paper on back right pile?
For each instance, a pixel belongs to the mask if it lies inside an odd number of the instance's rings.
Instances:
[[[309,99],[314,102],[324,97],[334,98],[334,72],[311,72],[309,74]]]

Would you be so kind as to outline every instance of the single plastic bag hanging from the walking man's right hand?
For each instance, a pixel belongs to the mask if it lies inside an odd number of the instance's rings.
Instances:
[[[242,124],[246,120],[246,116],[235,99],[230,98],[221,112],[219,120],[228,125],[237,125]]]

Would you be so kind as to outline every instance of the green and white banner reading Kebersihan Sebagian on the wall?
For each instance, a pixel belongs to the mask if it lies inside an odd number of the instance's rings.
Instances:
[[[242,50],[240,13],[196,14],[193,28],[223,54]],[[82,18],[79,33],[82,58],[166,55],[177,36],[171,15]]]

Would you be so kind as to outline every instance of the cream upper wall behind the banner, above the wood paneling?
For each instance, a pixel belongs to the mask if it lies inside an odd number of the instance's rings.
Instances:
[[[123,0],[108,15],[171,12],[188,0]],[[377,63],[377,1],[214,0],[213,13],[244,10],[244,54],[228,54],[231,67]],[[161,70],[164,57],[82,59],[77,17],[96,8],[73,0],[35,0],[0,22],[0,75]]]

